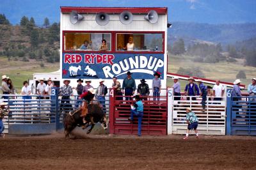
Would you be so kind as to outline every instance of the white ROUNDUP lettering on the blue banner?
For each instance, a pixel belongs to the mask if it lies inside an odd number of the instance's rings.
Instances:
[[[154,75],[159,68],[164,66],[164,61],[154,56],[147,58],[146,56],[134,56],[118,63],[114,63],[111,66],[104,66],[102,68],[106,79],[109,77],[118,77],[125,74],[128,70],[136,73],[148,73]]]

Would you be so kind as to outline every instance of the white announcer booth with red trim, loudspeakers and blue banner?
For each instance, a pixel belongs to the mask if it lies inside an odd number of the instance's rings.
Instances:
[[[72,87],[81,78],[111,88],[113,77],[122,84],[130,71],[136,86],[145,79],[150,89],[161,72],[166,89],[167,8],[61,7],[60,20],[61,79]]]

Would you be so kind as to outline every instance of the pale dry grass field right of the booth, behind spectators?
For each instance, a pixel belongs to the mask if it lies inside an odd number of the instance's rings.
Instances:
[[[169,54],[168,59],[168,72],[177,73],[180,67],[189,68],[199,67],[204,72],[207,79],[220,79],[221,81],[234,82],[239,70],[244,70],[247,79],[242,79],[242,84],[247,85],[251,82],[252,77],[256,77],[256,67],[243,66],[242,60],[236,63],[197,63],[191,60],[189,56],[173,56]],[[184,88],[186,81],[180,81],[182,89]],[[172,80],[168,80],[168,86],[172,86]]]

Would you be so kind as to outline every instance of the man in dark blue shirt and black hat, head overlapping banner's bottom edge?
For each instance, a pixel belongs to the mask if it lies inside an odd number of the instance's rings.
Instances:
[[[127,72],[127,77],[125,77],[122,85],[122,93],[126,96],[125,100],[132,100],[131,96],[134,95],[136,89],[136,83],[131,75],[131,72]]]

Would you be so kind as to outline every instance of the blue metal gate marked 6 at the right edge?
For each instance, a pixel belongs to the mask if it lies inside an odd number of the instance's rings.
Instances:
[[[256,97],[227,95],[227,134],[256,135]]]

